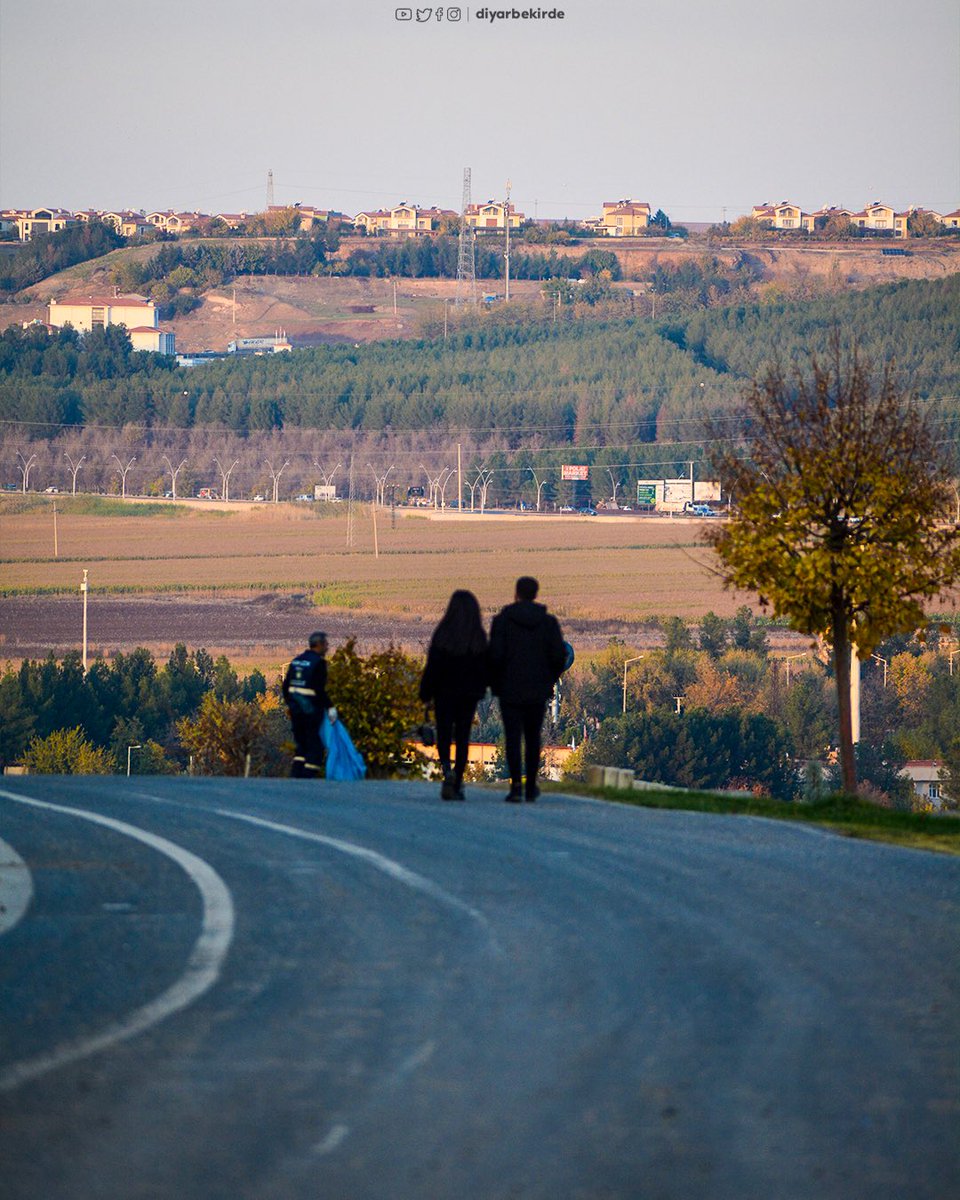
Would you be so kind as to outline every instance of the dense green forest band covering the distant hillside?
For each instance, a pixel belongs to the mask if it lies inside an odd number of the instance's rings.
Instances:
[[[511,306],[512,308],[514,306]],[[467,318],[448,338],[230,358],[191,371],[132,354],[121,330],[0,335],[0,421],[332,434],[496,431],[506,445],[682,442],[728,413],[764,362],[826,349],[834,330],[893,360],[955,434],[960,276],[808,301],[736,304],[662,322]],[[31,432],[32,431],[32,432]]]

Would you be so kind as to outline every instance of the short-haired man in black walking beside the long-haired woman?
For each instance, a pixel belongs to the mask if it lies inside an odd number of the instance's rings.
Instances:
[[[540,794],[536,773],[544,714],[566,661],[557,618],[546,605],[535,604],[539,590],[540,584],[529,575],[518,578],[514,604],[497,613],[490,629],[492,688],[500,701],[510,770],[509,804],[521,804],[524,796],[535,800]]]

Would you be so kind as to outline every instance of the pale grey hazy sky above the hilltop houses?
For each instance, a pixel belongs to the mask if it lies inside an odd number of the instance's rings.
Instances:
[[[0,0],[0,206],[960,205],[956,0],[557,10]]]

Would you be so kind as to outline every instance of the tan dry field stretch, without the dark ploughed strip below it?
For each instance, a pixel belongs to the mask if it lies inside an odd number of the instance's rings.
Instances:
[[[708,611],[732,614],[749,596],[725,592],[700,545],[700,526],[662,517],[444,516],[380,510],[374,556],[368,505],[353,517],[306,505],[257,505],[170,516],[58,517],[0,506],[0,592],[73,592],[83,568],[101,592],[217,588],[244,593],[320,592],[328,607],[433,618],[455,587],[485,610],[512,593],[518,575],[540,578],[560,616],[642,620]],[[175,514],[175,515],[174,515]]]

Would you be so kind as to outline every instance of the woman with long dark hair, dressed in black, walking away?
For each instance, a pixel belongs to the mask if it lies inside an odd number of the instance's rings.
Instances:
[[[487,635],[473,592],[457,590],[433,631],[420,680],[420,700],[437,713],[437,754],[443,770],[440,798],[462,800],[463,773],[476,704],[490,683]],[[452,769],[450,743],[456,743]]]

